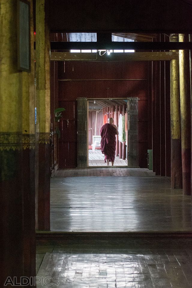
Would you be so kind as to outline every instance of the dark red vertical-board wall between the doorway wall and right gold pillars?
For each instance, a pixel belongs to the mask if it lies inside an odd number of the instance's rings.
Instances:
[[[157,41],[169,41],[164,34],[157,34]],[[153,149],[153,171],[159,176],[171,176],[170,132],[170,61],[152,61],[149,64],[148,135]]]

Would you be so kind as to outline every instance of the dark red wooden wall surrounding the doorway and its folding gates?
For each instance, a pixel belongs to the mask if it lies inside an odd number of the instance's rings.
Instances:
[[[77,166],[78,97],[139,97],[139,166],[147,167],[148,62],[58,62],[58,107],[67,108],[59,123],[59,168]]]

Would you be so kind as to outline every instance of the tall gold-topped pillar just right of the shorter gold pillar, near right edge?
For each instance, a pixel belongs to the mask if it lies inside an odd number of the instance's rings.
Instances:
[[[188,35],[179,34],[179,42],[189,41]],[[191,195],[191,109],[189,50],[179,50],[179,82],[181,109],[181,141],[183,194]]]

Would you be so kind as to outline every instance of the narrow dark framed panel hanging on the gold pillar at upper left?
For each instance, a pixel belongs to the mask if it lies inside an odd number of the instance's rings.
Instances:
[[[31,71],[30,2],[17,0],[17,67]]]

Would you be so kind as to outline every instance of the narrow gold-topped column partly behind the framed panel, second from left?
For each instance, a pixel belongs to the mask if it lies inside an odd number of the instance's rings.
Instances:
[[[31,267],[36,266],[35,249],[35,62],[34,62],[34,28],[33,4],[30,6],[30,49],[31,69],[22,72],[22,146],[23,146],[23,255],[24,274],[29,275]],[[31,264],[29,263],[29,259]],[[33,271],[35,275],[36,271]]]

